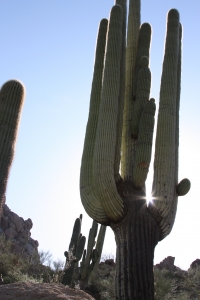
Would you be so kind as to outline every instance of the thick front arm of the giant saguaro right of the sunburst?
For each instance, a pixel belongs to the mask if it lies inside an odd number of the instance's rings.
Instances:
[[[179,24],[179,13],[173,9],[168,13],[152,190],[153,203],[161,217],[167,216],[175,196]]]

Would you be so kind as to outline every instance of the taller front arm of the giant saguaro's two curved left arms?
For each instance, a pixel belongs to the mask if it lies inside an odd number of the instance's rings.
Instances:
[[[123,202],[117,193],[114,178],[122,24],[122,8],[115,5],[110,14],[94,153],[95,186],[105,213],[110,220],[119,220],[123,217]]]

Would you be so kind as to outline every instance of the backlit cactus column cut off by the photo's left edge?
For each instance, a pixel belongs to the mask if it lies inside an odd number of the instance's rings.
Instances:
[[[17,80],[7,81],[0,90],[0,220],[5,203],[8,176],[25,98],[25,88]]]

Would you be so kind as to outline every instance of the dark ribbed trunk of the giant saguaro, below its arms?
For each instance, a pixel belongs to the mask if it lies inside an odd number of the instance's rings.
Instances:
[[[159,231],[143,201],[129,202],[130,214],[117,225],[116,299],[154,299],[153,258]]]

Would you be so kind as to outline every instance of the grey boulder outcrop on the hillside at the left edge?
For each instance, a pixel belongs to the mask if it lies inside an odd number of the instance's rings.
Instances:
[[[32,227],[31,219],[24,220],[4,204],[0,234],[5,234],[6,239],[12,241],[13,252],[22,254],[24,257],[30,257],[34,253],[38,254],[39,243],[31,238]]]

